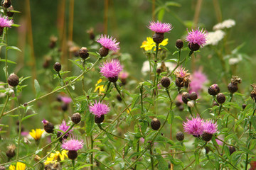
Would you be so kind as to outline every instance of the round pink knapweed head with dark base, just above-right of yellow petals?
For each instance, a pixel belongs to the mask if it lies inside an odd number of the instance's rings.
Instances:
[[[120,72],[122,72],[122,66],[119,60],[110,60],[100,67],[100,73],[111,82],[117,81]]]

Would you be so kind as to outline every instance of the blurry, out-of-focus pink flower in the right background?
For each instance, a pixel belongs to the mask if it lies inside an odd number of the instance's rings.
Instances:
[[[203,89],[203,84],[208,81],[206,74],[203,74],[201,71],[194,72],[191,76],[191,83],[189,84],[189,93],[196,92]]]

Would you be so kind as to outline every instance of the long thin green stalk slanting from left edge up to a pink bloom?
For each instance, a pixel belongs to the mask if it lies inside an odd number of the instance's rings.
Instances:
[[[87,70],[85,70],[84,72],[82,72],[77,78],[73,79],[73,81],[71,81],[70,84],[75,83],[75,81],[77,81],[78,79],[80,79],[80,78],[83,76],[83,74],[89,72],[93,67],[95,67],[95,65],[96,65],[98,62],[100,62],[101,59],[102,59],[101,57],[98,58],[97,61],[92,65],[92,67],[90,67],[90,69],[87,69]],[[26,102],[26,103],[30,104],[30,103],[33,103],[33,102],[35,102],[35,101],[38,101],[38,100],[40,100],[40,99],[42,99],[42,98],[45,98],[46,96],[49,96],[50,94],[54,94],[55,92],[60,91],[61,89],[64,89],[64,88],[67,87],[67,86],[70,86],[70,84],[65,84],[64,86],[61,86],[60,88],[55,89],[54,91],[51,91],[51,92],[48,93],[48,94],[45,94],[45,95],[43,95],[43,96],[41,96],[41,97],[38,97],[38,98],[34,98],[32,101],[28,101],[28,102]],[[6,113],[4,113],[4,115],[7,115],[7,114],[9,114],[9,113],[11,113],[11,112],[13,112],[13,111],[16,111],[19,107],[20,107],[20,106],[18,106],[18,107],[16,107],[16,108],[12,109],[11,111],[7,111]]]

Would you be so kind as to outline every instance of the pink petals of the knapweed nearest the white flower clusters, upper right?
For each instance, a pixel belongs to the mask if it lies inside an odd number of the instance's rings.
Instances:
[[[188,29],[187,29],[188,31]],[[191,32],[188,32],[188,36],[186,37],[186,41],[190,44],[198,44],[203,47],[203,45],[206,44],[206,37],[208,33],[206,30],[191,30]]]

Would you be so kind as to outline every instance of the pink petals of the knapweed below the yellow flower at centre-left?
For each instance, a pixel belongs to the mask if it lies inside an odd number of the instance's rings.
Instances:
[[[100,118],[101,115],[105,115],[110,112],[110,107],[107,104],[100,103],[100,101],[89,106],[89,110],[92,114],[97,115],[97,118]]]

